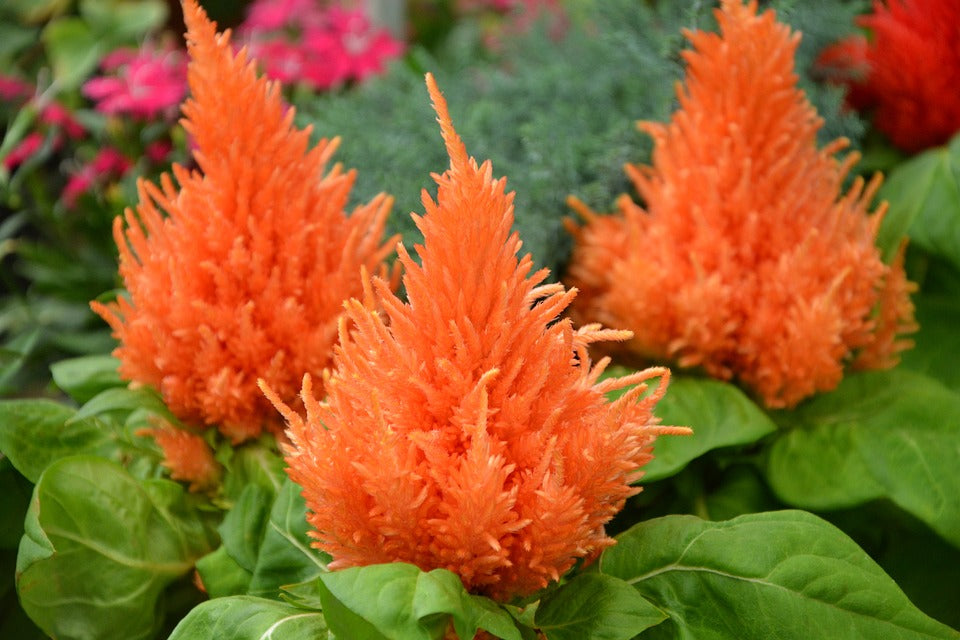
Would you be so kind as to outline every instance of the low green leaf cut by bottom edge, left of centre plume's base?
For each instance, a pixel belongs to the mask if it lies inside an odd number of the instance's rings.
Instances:
[[[170,640],[326,640],[319,611],[254,598],[233,596],[204,602],[180,621]],[[343,640],[347,640],[344,638]]]

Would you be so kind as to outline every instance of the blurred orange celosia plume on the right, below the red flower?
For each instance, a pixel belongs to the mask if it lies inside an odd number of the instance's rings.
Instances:
[[[816,147],[822,121],[793,72],[799,34],[756,2],[724,0],[717,18],[722,35],[686,34],[680,110],[641,125],[653,166],[627,170],[646,211],[626,196],[622,217],[574,203],[587,224],[573,228],[568,281],[585,292],[575,317],[631,329],[633,351],[789,407],[858,356],[895,362],[911,285],[874,246],[880,177],[842,194],[857,154],[837,160],[845,140]]]

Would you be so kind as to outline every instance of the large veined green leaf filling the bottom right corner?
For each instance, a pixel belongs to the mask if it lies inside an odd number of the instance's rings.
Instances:
[[[649,520],[619,536],[600,572],[667,612],[650,637],[960,637],[914,607],[843,532],[802,511]]]

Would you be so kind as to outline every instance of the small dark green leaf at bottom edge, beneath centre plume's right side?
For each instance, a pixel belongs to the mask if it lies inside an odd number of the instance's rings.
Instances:
[[[543,599],[536,626],[548,640],[630,640],[666,618],[623,580],[585,573]]]

